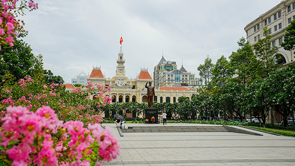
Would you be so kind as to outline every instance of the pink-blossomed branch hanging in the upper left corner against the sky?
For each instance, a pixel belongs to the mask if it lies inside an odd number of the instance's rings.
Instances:
[[[38,3],[33,0],[1,0],[0,1],[0,50],[1,45],[13,46],[14,37],[18,36],[16,30],[22,31],[25,23],[17,20],[18,14],[24,15],[24,10],[38,8]]]

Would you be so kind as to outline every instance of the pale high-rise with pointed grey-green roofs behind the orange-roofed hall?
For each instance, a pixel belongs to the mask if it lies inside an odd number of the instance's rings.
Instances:
[[[166,61],[162,55],[159,63],[154,67],[153,79],[155,87],[199,87],[202,86],[202,82],[195,77],[195,74],[187,72],[183,65],[180,69],[177,69],[175,61]]]

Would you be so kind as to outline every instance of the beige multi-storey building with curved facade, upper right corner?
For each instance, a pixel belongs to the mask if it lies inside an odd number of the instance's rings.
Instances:
[[[272,47],[278,47],[278,53],[274,56],[283,57],[281,63],[287,66],[295,60],[294,52],[286,51],[280,45],[284,41],[286,27],[294,19],[295,0],[282,0],[278,5],[260,15],[244,28],[247,33],[247,40],[251,45],[255,44],[258,39],[264,37],[263,28],[269,28],[271,30],[271,45]]]

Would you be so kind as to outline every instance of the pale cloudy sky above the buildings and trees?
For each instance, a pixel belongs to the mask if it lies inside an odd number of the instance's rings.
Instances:
[[[207,55],[215,63],[238,49],[244,28],[281,0],[34,0],[38,9],[20,19],[23,39],[44,68],[65,83],[101,67],[116,76],[120,46],[126,76],[153,68],[162,55],[196,77]],[[119,40],[122,36],[123,42]]]

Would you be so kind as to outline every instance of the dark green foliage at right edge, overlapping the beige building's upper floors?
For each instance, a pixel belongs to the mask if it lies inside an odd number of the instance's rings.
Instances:
[[[284,42],[281,43],[281,46],[285,50],[294,50],[295,49],[295,21],[291,21],[291,24],[286,27],[286,33],[284,37]]]

